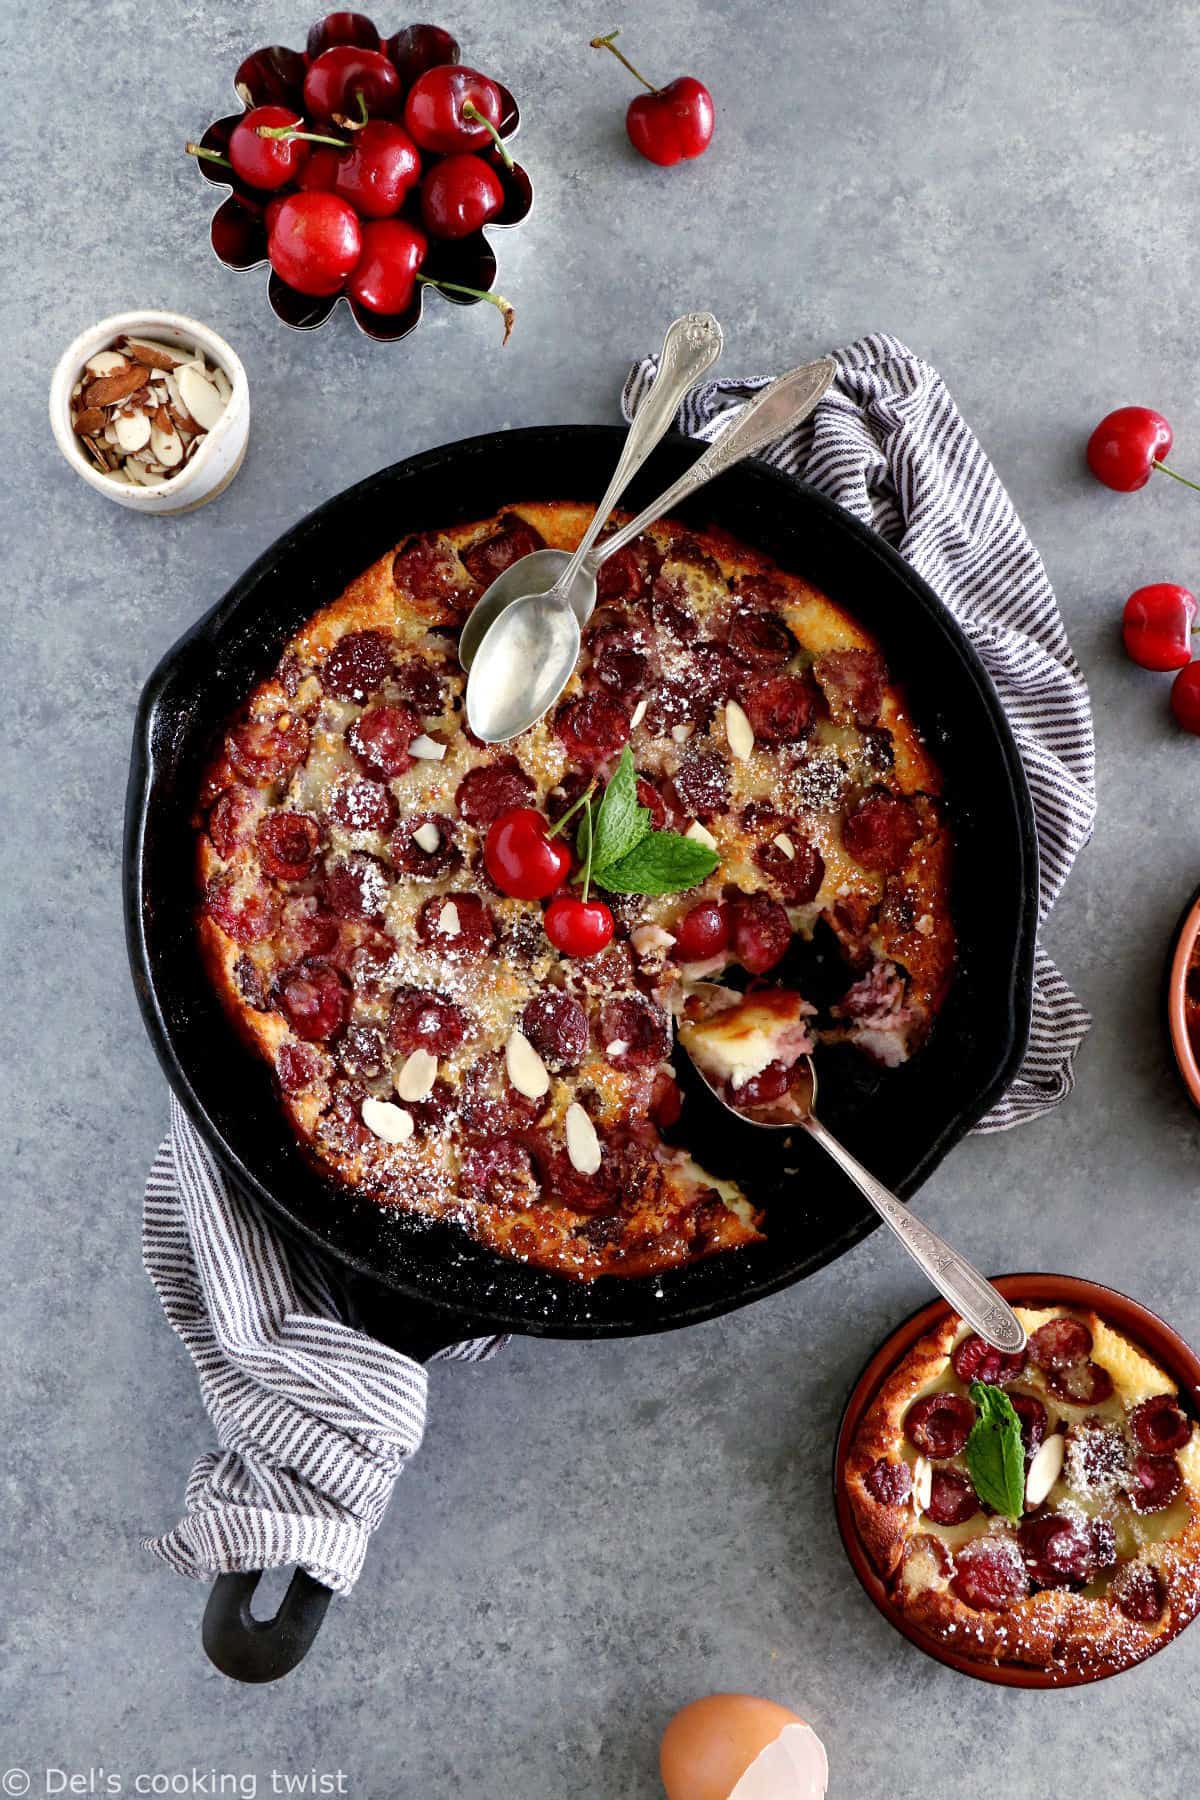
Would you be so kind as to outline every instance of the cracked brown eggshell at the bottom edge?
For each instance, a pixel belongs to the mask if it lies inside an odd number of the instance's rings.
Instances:
[[[820,1739],[799,1714],[752,1694],[709,1694],[675,1714],[658,1751],[667,1800],[729,1800],[756,1757],[788,1724],[802,1726],[802,1733],[790,1733],[790,1755],[756,1769],[756,1795],[820,1800],[828,1782]]]

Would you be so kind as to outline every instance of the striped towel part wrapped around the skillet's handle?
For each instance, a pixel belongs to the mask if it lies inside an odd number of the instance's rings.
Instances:
[[[219,1444],[193,1467],[187,1516],[146,1548],[196,1580],[299,1562],[349,1593],[421,1445],[425,1366],[344,1323],[320,1260],[227,1183],[175,1096],[142,1256]],[[434,1361],[482,1363],[504,1343],[471,1337]]]

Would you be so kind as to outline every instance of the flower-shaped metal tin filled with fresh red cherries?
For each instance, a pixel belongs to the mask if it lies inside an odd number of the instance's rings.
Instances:
[[[516,101],[464,68],[439,25],[381,38],[362,13],[329,13],[304,50],[254,50],[234,76],[241,112],[216,119],[189,155],[228,194],[212,216],[227,268],[270,263],[268,299],[311,331],[345,301],[381,342],[421,320],[428,288],[489,301],[493,227],[520,225],[533,185],[513,162]]]

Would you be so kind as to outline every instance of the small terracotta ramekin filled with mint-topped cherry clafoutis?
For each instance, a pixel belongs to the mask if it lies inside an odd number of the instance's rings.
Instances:
[[[838,1525],[871,1598],[930,1656],[1074,1687],[1200,1609],[1200,1361],[1096,1283],[997,1285],[1024,1355],[939,1301],[873,1357],[838,1438]]]

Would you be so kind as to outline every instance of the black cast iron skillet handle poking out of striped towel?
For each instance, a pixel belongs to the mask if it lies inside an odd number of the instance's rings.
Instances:
[[[477,1336],[444,1312],[425,1312],[408,1300],[398,1307],[396,1296],[372,1282],[340,1273],[336,1285],[347,1323],[416,1363],[428,1363],[435,1350]],[[299,1568],[275,1616],[255,1618],[250,1602],[261,1580],[263,1570],[246,1570],[218,1575],[209,1589],[201,1640],[209,1661],[230,1681],[279,1681],[291,1674],[311,1651],[333,1600],[331,1588]]]

